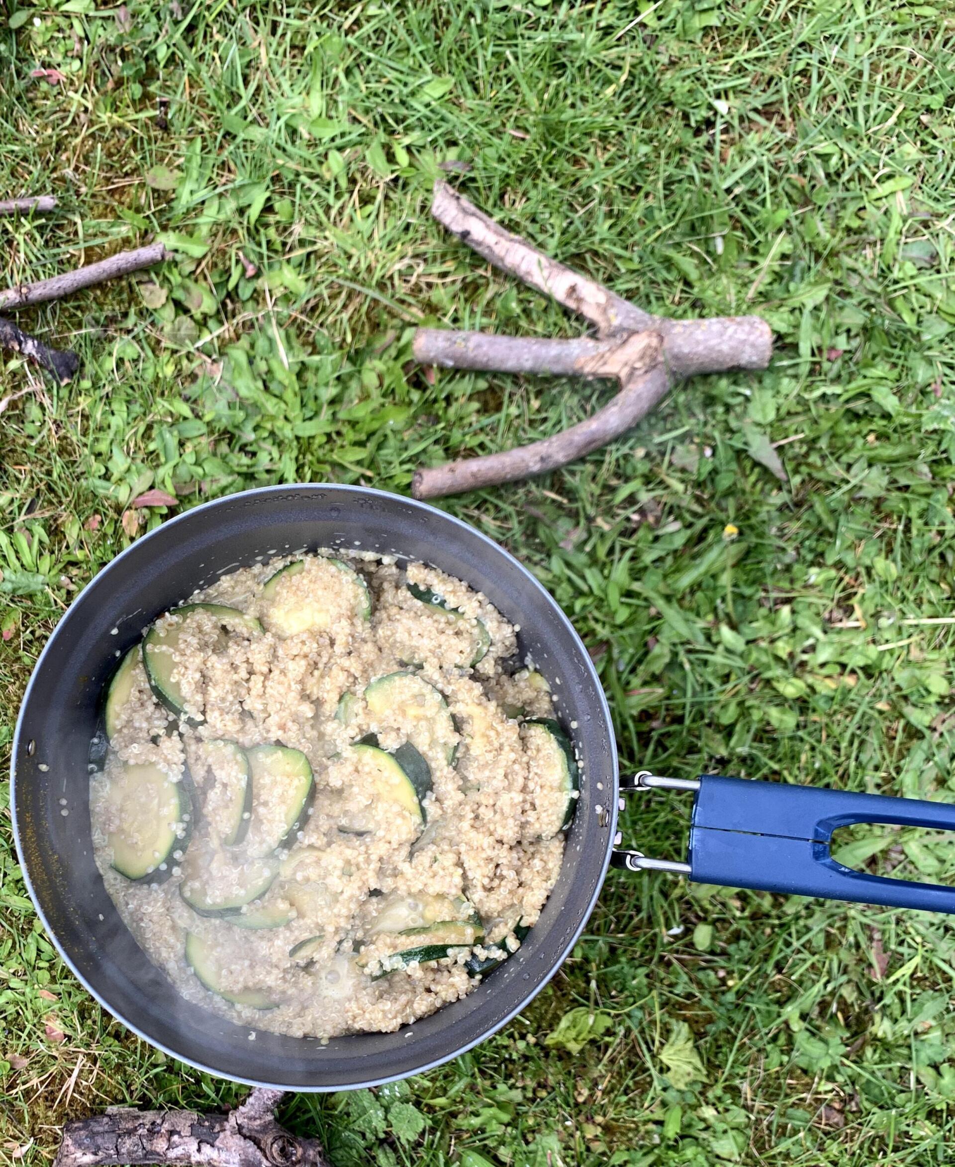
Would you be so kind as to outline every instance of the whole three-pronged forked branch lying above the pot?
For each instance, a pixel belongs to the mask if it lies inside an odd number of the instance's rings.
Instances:
[[[772,333],[758,316],[689,321],[653,316],[506,231],[445,182],[434,184],[431,211],[496,267],[588,320],[598,340],[546,341],[419,328],[416,359],[451,369],[612,377],[621,391],[586,421],[544,441],[418,469],[411,485],[416,498],[438,498],[558,469],[632,428],[681,377],[765,369],[769,363]],[[626,356],[630,344],[647,345],[633,364]],[[648,365],[653,345],[655,363]]]

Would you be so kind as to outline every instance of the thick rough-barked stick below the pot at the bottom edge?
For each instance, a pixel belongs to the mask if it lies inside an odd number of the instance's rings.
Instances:
[[[328,1167],[315,1139],[300,1139],[276,1121],[273,1112],[283,1093],[258,1088],[229,1114],[123,1106],[67,1123],[54,1167]]]

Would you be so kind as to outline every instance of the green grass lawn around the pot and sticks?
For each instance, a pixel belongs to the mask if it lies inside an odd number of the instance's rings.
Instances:
[[[4,282],[153,232],[177,258],[21,314],[84,379],[0,364],[0,745],[70,595],[162,520],[124,527],[142,490],[406,491],[420,461],[592,407],[590,386],[410,362],[418,321],[579,330],[431,222],[454,161],[618,292],[776,333],[766,375],[685,385],[566,473],[447,503],[573,617],[625,768],[953,799],[953,628],[899,623],[953,614],[950,0],[9,2],[0,194],[62,207],[0,222]],[[785,482],[759,461],[783,441]],[[688,805],[633,799],[627,839],[679,857]],[[239,1098],[90,1001],[25,899],[6,810],[0,839],[2,1161],[48,1161],[64,1119],[109,1104]],[[886,858],[955,873],[913,834]],[[499,1036],[285,1117],[339,1167],[943,1162],[954,990],[943,916],[613,873]]]

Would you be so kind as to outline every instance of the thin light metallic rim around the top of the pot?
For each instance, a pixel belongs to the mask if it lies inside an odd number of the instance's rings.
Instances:
[[[355,1082],[348,1083],[347,1085],[342,1085],[342,1084],[337,1084],[337,1085],[311,1085],[311,1084],[309,1085],[298,1085],[298,1084],[297,1085],[286,1085],[286,1084],[283,1084],[283,1083],[264,1082],[264,1081],[259,1081],[257,1078],[243,1077],[242,1075],[237,1075],[237,1074],[224,1074],[222,1070],[215,1069],[215,1068],[212,1068],[210,1065],[205,1065],[204,1063],[202,1063],[200,1061],[196,1061],[196,1060],[190,1058],[190,1057],[184,1057],[182,1054],[177,1053],[175,1049],[172,1049],[169,1046],[165,1044],[163,1042],[158,1041],[154,1037],[151,1037],[148,1034],[144,1033],[139,1027],[137,1027],[137,1026],[132,1025],[130,1021],[127,1021],[126,1018],[124,1018],[119,1013],[117,1013],[113,1009],[113,1007],[110,1005],[110,1002],[107,1000],[105,1000],[105,998],[103,995],[100,995],[100,993],[96,988],[93,988],[92,985],[86,980],[86,978],[83,976],[83,973],[79,972],[79,970],[76,967],[76,965],[74,964],[74,962],[70,958],[70,956],[67,953],[64,946],[60,942],[60,938],[57,937],[56,932],[50,927],[50,924],[49,924],[49,922],[47,920],[47,916],[43,913],[43,909],[42,909],[42,907],[40,904],[37,895],[36,895],[36,893],[34,890],[33,881],[30,879],[29,871],[27,868],[26,857],[25,857],[23,848],[21,847],[21,843],[20,843],[20,824],[19,824],[19,820],[18,820],[16,760],[20,756],[20,750],[21,750],[22,745],[23,745],[22,741],[21,741],[22,733],[23,733],[23,711],[26,710],[27,704],[30,700],[30,697],[33,694],[34,683],[36,680],[37,673],[40,672],[41,665],[43,664],[43,661],[44,661],[47,654],[50,652],[51,645],[54,644],[56,637],[60,635],[60,630],[65,624],[67,620],[70,616],[70,613],[74,610],[74,608],[76,608],[78,606],[79,601],[85,596],[86,592],[90,591],[93,587],[93,585],[97,584],[97,581],[100,581],[102,578],[105,576],[114,567],[114,565],[117,565],[120,560],[130,558],[134,553],[135,554],[140,554],[141,553],[140,548],[142,548],[144,546],[147,546],[148,540],[153,536],[158,536],[160,533],[160,531],[165,531],[169,526],[175,526],[176,524],[182,524],[182,523],[189,522],[190,518],[191,518],[191,516],[194,516],[194,515],[197,515],[197,513],[201,513],[201,512],[204,512],[204,511],[208,511],[208,510],[212,510],[216,506],[221,506],[221,505],[224,505],[226,503],[235,503],[235,501],[237,498],[262,498],[262,497],[267,496],[267,495],[276,495],[276,494],[284,494],[284,492],[300,491],[300,490],[305,490],[305,491],[307,491],[309,494],[313,492],[313,491],[322,491],[323,494],[342,494],[342,495],[360,492],[360,494],[363,494],[365,496],[371,496],[371,497],[383,497],[383,498],[389,498],[389,499],[399,498],[403,503],[405,503],[409,506],[412,506],[412,508],[416,508],[418,510],[423,510],[423,511],[430,512],[432,515],[440,516],[440,518],[442,520],[446,520],[446,522],[451,523],[453,526],[456,526],[456,527],[460,527],[462,530],[466,530],[472,536],[478,536],[481,540],[483,540],[483,543],[486,543],[488,545],[488,547],[495,554],[504,555],[513,564],[515,564],[525,575],[528,575],[534,581],[534,584],[535,584],[536,587],[541,588],[541,591],[543,591],[545,593],[545,595],[548,596],[548,599],[553,605],[555,610],[556,610],[557,615],[559,616],[562,623],[564,624],[567,634],[570,635],[570,637],[573,641],[577,642],[577,648],[578,648],[578,650],[580,652],[580,657],[586,663],[586,669],[590,672],[591,680],[593,683],[593,689],[594,689],[594,691],[597,693],[598,708],[594,712],[598,713],[604,719],[604,722],[605,722],[605,725],[607,727],[607,740],[609,742],[609,752],[611,752],[608,768],[609,768],[609,773],[612,775],[613,789],[609,790],[609,791],[607,791],[607,795],[609,796],[608,797],[609,806],[607,808],[607,810],[609,812],[609,832],[608,832],[608,843],[607,843],[607,846],[606,846],[606,853],[604,855],[604,862],[602,862],[601,869],[600,869],[600,876],[597,880],[597,883],[595,883],[595,887],[594,887],[594,892],[593,892],[593,894],[592,894],[592,896],[590,899],[590,902],[586,904],[585,910],[580,915],[579,923],[574,927],[573,931],[570,934],[569,939],[564,944],[563,951],[560,952],[560,955],[558,956],[558,958],[552,963],[551,967],[548,970],[546,976],[541,980],[539,984],[534,985],[529,990],[529,992],[523,997],[523,999],[513,1009],[510,1009],[510,1012],[508,1012],[503,1018],[501,1018],[497,1021],[495,1021],[494,1026],[490,1029],[485,1030],[482,1034],[480,1034],[478,1037],[473,1039],[472,1041],[468,1041],[466,1044],[460,1046],[460,1047],[455,1046],[449,1051],[442,1053],[441,1056],[432,1058],[431,1061],[426,1062],[425,1064],[423,1064],[420,1067],[417,1067],[416,1069],[409,1070],[406,1072],[390,1074],[390,1075],[386,1075],[384,1077],[370,1077],[370,1078],[367,1078],[367,1079],[363,1078],[363,1079],[360,1079],[360,1081],[355,1081]],[[480,531],[478,527],[472,526],[469,523],[466,523],[463,519],[458,518],[455,515],[449,515],[447,511],[440,510],[437,506],[432,506],[428,503],[420,502],[417,498],[410,498],[410,497],[407,497],[405,495],[399,495],[396,491],[381,490],[381,489],[378,489],[376,487],[351,485],[351,484],[348,484],[348,483],[300,482],[300,483],[291,483],[291,484],[277,484],[277,485],[271,485],[271,487],[256,487],[256,488],[252,488],[250,490],[237,490],[237,491],[235,491],[231,495],[222,495],[218,498],[211,498],[208,502],[200,503],[200,505],[193,506],[189,510],[181,512],[180,515],[173,516],[170,519],[167,519],[166,522],[163,522],[161,524],[161,526],[156,527],[153,531],[149,531],[142,538],[140,538],[137,541],[130,544],[128,547],[126,547],[125,550],[120,551],[118,555],[114,555],[105,566],[103,566],[92,576],[92,579],[89,580],[89,582],[83,587],[83,589],[74,598],[72,603],[63,613],[63,615],[60,617],[60,621],[57,622],[56,627],[54,628],[53,633],[50,634],[47,643],[43,645],[43,649],[42,649],[40,656],[36,658],[36,663],[34,664],[33,670],[30,671],[30,678],[29,678],[29,680],[27,683],[27,687],[23,691],[23,698],[22,698],[22,701],[20,704],[20,711],[19,711],[18,717],[16,717],[16,727],[14,729],[13,742],[12,742],[12,752],[11,752],[11,820],[12,820],[12,824],[13,824],[13,837],[14,837],[14,844],[15,844],[15,847],[16,847],[16,858],[18,858],[18,861],[19,861],[19,865],[20,865],[20,871],[21,871],[22,876],[23,876],[23,882],[26,885],[27,893],[28,893],[28,895],[30,897],[30,901],[33,902],[33,906],[34,906],[34,909],[36,911],[36,915],[37,915],[40,922],[42,923],[43,929],[44,929],[47,936],[51,941],[54,948],[56,949],[56,951],[57,951],[57,953],[60,956],[60,958],[63,960],[63,963],[67,965],[67,967],[70,970],[70,972],[74,974],[74,977],[76,977],[76,979],[86,990],[86,992],[111,1016],[116,1018],[116,1020],[119,1021],[123,1026],[125,1026],[131,1033],[135,1034],[137,1037],[139,1037],[141,1041],[145,1041],[147,1044],[152,1046],[154,1049],[159,1049],[159,1050],[161,1050],[161,1053],[166,1054],[167,1056],[175,1058],[175,1061],[182,1062],[186,1065],[190,1065],[190,1067],[193,1067],[193,1069],[200,1070],[203,1074],[209,1074],[212,1077],[223,1078],[224,1081],[230,1081],[230,1082],[238,1082],[238,1083],[241,1083],[243,1085],[265,1086],[265,1088],[269,1088],[269,1089],[283,1090],[283,1091],[286,1091],[286,1092],[294,1092],[294,1093],[323,1093],[323,1092],[335,1091],[335,1090],[362,1090],[362,1089],[368,1089],[370,1086],[385,1085],[389,1082],[397,1082],[397,1081],[400,1081],[403,1078],[411,1077],[412,1075],[416,1075],[416,1074],[427,1074],[431,1070],[437,1069],[439,1065],[444,1065],[446,1062],[453,1061],[455,1057],[460,1057],[462,1054],[467,1054],[469,1050],[474,1049],[476,1046],[480,1046],[487,1039],[494,1036],[495,1033],[499,1033],[506,1025],[508,1025],[510,1021],[513,1021],[514,1018],[516,1018],[523,1009],[525,1009],[527,1006],[531,1002],[531,1000],[534,1000],[534,998],[537,997],[537,994],[541,993],[544,990],[544,987],[556,976],[558,969],[560,969],[560,966],[564,964],[564,962],[566,960],[566,958],[570,956],[571,951],[573,950],[573,946],[577,944],[578,939],[580,938],[580,935],[581,935],[581,932],[584,931],[584,929],[585,929],[585,927],[587,924],[587,921],[588,921],[588,918],[591,916],[591,913],[594,909],[594,906],[597,904],[597,900],[598,900],[598,897],[600,895],[600,892],[602,890],[604,882],[605,882],[605,880],[607,878],[607,869],[609,867],[611,854],[613,852],[614,836],[616,833],[619,783],[620,783],[620,769],[619,769],[619,767],[620,767],[620,763],[619,763],[619,757],[618,757],[618,752],[616,752],[616,739],[615,739],[615,735],[614,735],[613,719],[611,717],[611,710],[609,710],[609,705],[607,703],[607,696],[604,692],[604,686],[602,686],[602,684],[600,682],[600,677],[597,673],[597,669],[594,668],[593,661],[591,659],[591,656],[587,652],[586,645],[581,641],[579,633],[573,627],[573,623],[571,622],[571,620],[567,616],[567,614],[564,612],[564,609],[560,607],[560,605],[553,599],[553,596],[550,594],[550,592],[548,592],[548,589],[544,587],[544,585],[541,584],[541,581],[536,578],[536,575],[534,575],[534,573],[530,571],[530,568],[528,568],[524,564],[522,564],[521,560],[517,559],[515,555],[513,555],[506,547],[501,546],[501,544],[496,543],[489,536],[485,534],[483,531]],[[397,1030],[397,1032],[400,1033],[400,1030]],[[348,1036],[348,1035],[346,1034],[343,1036]]]

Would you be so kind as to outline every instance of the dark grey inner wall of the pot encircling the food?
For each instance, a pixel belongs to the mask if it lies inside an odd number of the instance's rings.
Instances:
[[[393,1034],[322,1044],[250,1030],[189,1004],[149,963],[107,896],[89,822],[90,739],[104,683],[151,621],[226,572],[341,547],[420,559],[482,591],[518,624],[581,760],[557,886],[527,942],[479,988]],[[214,1074],[293,1090],[372,1085],[428,1069],[500,1028],[569,952],[593,907],[616,822],[616,753],[590,657],[515,559],[431,506],[357,487],[277,487],[208,503],[133,544],[82,593],[34,671],[14,742],[14,820],[32,895],[62,955],[117,1018]]]

